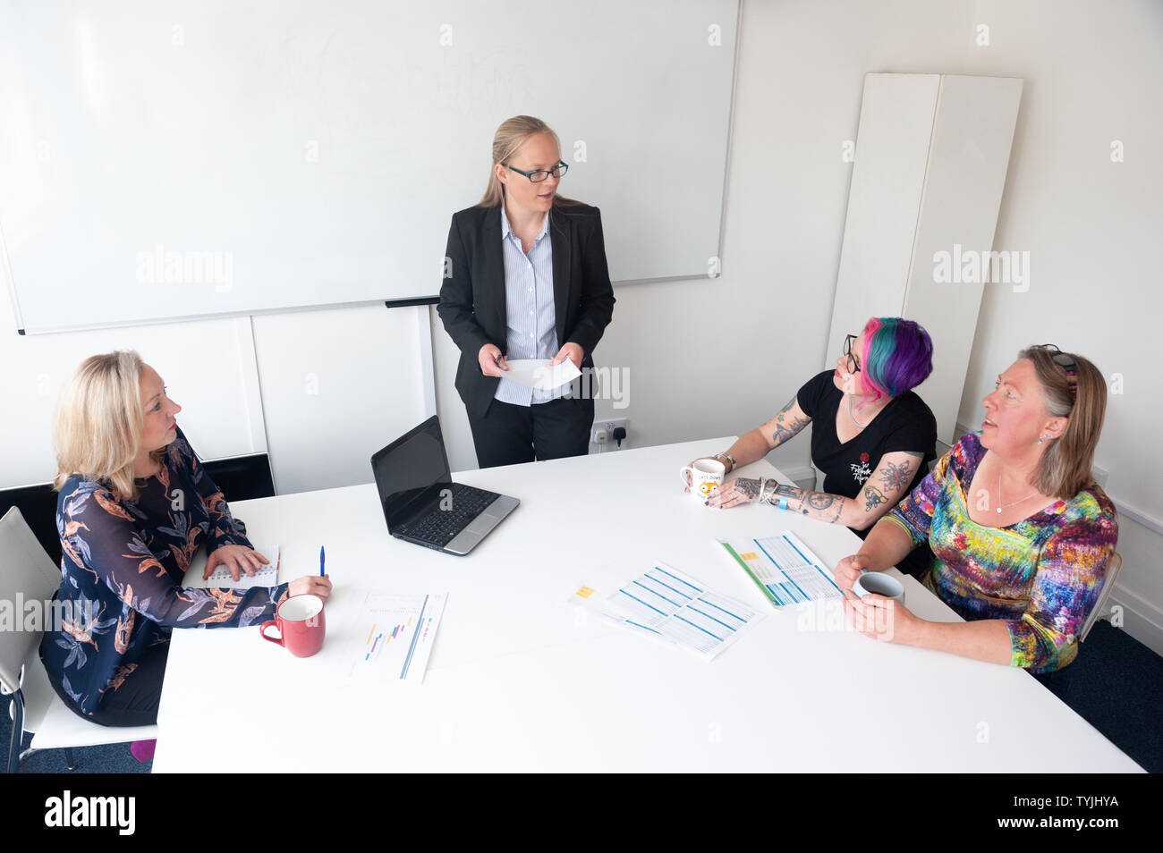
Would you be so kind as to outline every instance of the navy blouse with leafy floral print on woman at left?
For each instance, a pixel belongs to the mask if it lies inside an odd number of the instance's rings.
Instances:
[[[286,597],[285,583],[181,586],[204,543],[207,552],[251,544],[180,429],[162,469],[137,485],[136,500],[119,502],[101,483],[73,474],[57,497],[64,553],[56,597],[71,607],[60,608],[65,618],[45,632],[41,655],[83,714],[121,687],[148,648],[169,643],[173,628],[256,625],[273,618]]]

